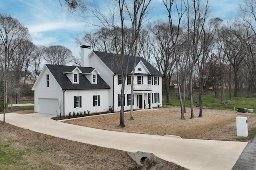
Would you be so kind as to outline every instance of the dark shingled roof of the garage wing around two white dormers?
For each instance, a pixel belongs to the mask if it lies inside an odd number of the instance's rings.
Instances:
[[[52,64],[46,64],[46,66],[63,90],[110,89],[108,84],[106,84],[100,75],[97,75],[97,84],[91,84],[90,81],[82,74],[79,74],[79,84],[73,84],[68,79],[66,74],[63,74],[63,72],[72,72],[76,67],[78,67],[82,73],[90,73],[92,70],[94,70],[92,67],[62,66]]]

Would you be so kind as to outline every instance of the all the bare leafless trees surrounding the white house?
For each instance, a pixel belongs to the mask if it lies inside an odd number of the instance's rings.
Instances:
[[[82,1],[72,2],[72,5],[68,5],[71,10],[76,10]],[[162,0],[166,18],[146,24],[146,16],[150,8],[153,8],[150,3],[151,0],[133,0],[131,3],[114,0],[113,6],[108,6],[109,15],[101,13],[96,4],[87,5],[82,12],[91,15],[97,22],[90,24],[100,29],[85,33],[82,38],[76,37],[76,43],[89,44],[93,50],[118,54],[124,68],[123,81],[127,76],[124,55],[135,56],[134,60],[136,57],[144,57],[163,74],[166,102],[170,102],[171,77],[175,75],[181,119],[185,119],[187,91],[190,96],[190,118],[194,118],[195,84],[199,88],[199,117],[202,117],[204,90],[208,87],[214,89],[216,96],[221,89],[222,102],[224,87],[228,87],[230,99],[232,92],[234,96],[241,92],[246,92],[247,96],[254,95],[256,0],[238,4],[237,17],[227,23],[221,18],[210,18],[208,1],[203,4],[200,0]],[[11,71],[26,72],[30,68],[32,72],[38,72],[43,60],[49,64],[67,64],[70,59],[74,61],[65,47],[56,46],[56,50],[52,46],[37,47],[32,43],[28,29],[18,20],[7,15],[1,15],[0,18],[0,69],[5,98],[8,90],[12,89],[7,85],[12,84],[12,81],[17,82],[16,78],[9,80]],[[57,49],[66,49],[67,53],[61,53]],[[66,58],[65,55],[69,57]],[[7,99],[5,104],[6,102]],[[122,115],[121,124],[124,126]]]

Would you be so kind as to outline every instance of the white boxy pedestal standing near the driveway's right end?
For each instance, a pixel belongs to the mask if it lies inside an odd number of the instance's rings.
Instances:
[[[247,117],[236,117],[236,136],[248,136]]]

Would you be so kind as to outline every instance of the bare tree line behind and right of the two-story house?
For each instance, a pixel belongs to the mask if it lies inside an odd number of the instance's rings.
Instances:
[[[210,18],[208,1],[162,0],[162,5],[166,8],[166,18],[144,24],[136,51],[132,53],[128,45],[132,39],[129,26],[124,28],[127,41],[123,43],[120,26],[109,27],[109,24],[85,33],[82,38],[76,37],[76,43],[90,44],[96,51],[119,53],[118,41],[124,44],[124,53],[144,57],[162,72],[167,103],[171,78],[176,77],[181,119],[186,112],[186,96],[190,100],[190,118],[194,118],[195,87],[199,88],[199,117],[202,117],[203,94],[208,88],[213,89],[216,97],[220,92],[221,102],[224,102],[224,89],[228,89],[230,100],[232,96],[254,96],[256,0],[238,4],[237,17],[225,22],[218,17]]]

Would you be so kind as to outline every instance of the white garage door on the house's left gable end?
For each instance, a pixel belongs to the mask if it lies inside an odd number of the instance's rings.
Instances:
[[[39,113],[56,115],[56,111],[60,112],[58,99],[39,98],[38,101]]]

